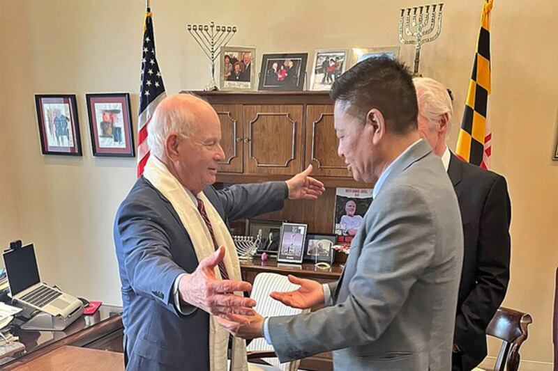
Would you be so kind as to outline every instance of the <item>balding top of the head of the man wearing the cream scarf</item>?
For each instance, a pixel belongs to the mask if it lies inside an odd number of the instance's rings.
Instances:
[[[193,94],[169,95],[157,106],[147,127],[147,145],[153,155],[164,160],[169,134],[193,136],[209,120],[218,120],[209,103]]]

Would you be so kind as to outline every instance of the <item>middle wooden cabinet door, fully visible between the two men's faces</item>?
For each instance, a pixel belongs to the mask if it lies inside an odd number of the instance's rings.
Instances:
[[[244,172],[294,175],[302,168],[301,104],[245,105]]]

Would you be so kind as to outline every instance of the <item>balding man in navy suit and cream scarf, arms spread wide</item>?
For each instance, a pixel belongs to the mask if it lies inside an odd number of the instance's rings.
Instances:
[[[216,111],[194,95],[171,95],[153,114],[151,157],[114,221],[126,370],[225,371],[229,334],[216,317],[243,323],[255,306],[242,295],[250,284],[227,222],[324,191],[311,167],[286,182],[216,191],[220,139]],[[231,370],[247,370],[244,340],[231,349]]]

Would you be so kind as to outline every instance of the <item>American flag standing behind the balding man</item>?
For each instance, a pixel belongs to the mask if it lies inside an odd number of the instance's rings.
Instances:
[[[142,53],[142,84],[140,86],[140,118],[137,120],[137,177],[142,176],[149,159],[147,146],[147,125],[159,102],[167,96],[163,77],[155,58],[155,36],[151,8],[147,8],[144,22],[144,40]]]

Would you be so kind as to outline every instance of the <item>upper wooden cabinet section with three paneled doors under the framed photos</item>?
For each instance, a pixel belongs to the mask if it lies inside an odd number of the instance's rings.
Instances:
[[[226,159],[218,179],[287,179],[312,164],[312,175],[356,187],[337,155],[333,102],[327,92],[199,92],[216,109]],[[324,179],[322,179],[322,177]]]

